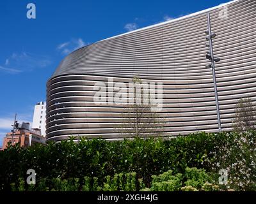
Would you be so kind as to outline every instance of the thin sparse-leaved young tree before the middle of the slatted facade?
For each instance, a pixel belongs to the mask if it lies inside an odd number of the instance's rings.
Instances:
[[[161,128],[161,120],[159,115],[152,111],[150,95],[145,99],[145,90],[141,86],[141,79],[134,77],[133,80],[133,99],[132,103],[128,103],[124,112],[122,113],[122,122],[117,128],[119,133],[124,133],[130,136],[152,136],[160,135],[159,128]],[[139,87],[139,88],[138,88]],[[138,89],[140,93],[138,94]],[[147,103],[145,103],[147,101]]]

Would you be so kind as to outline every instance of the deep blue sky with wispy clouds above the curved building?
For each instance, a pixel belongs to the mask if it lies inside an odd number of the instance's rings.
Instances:
[[[31,122],[58,63],[76,48],[116,34],[204,10],[228,0],[1,0],[0,146],[15,113]],[[28,3],[36,19],[28,19]]]

